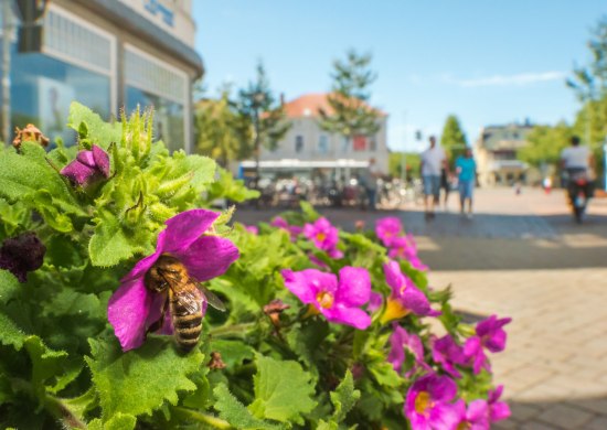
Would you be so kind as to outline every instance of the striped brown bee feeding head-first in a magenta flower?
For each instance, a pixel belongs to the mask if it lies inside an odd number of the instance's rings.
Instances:
[[[160,320],[148,332],[162,326],[164,314],[170,307],[174,338],[185,352],[196,346],[202,332],[202,311],[204,300],[213,308],[225,312],[223,302],[211,291],[190,277],[185,266],[177,258],[161,255],[145,277],[148,290],[167,294]]]

